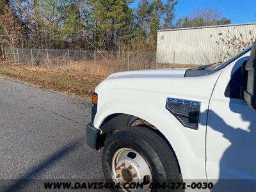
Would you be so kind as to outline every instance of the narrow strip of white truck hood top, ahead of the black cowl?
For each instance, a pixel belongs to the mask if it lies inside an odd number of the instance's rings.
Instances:
[[[116,77],[140,77],[140,76],[184,76],[188,68],[161,68],[161,69],[145,69],[133,70],[128,72],[117,72],[111,74],[108,78]]]

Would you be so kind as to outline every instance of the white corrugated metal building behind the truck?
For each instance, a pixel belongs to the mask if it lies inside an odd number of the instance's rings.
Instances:
[[[237,53],[231,41],[252,42],[255,36],[256,23],[159,30],[157,63],[205,64],[227,60],[227,52],[231,56]]]

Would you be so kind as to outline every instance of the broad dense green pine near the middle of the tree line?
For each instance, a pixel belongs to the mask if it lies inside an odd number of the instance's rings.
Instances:
[[[132,37],[132,10],[125,0],[93,1],[93,32],[98,46],[118,49]]]

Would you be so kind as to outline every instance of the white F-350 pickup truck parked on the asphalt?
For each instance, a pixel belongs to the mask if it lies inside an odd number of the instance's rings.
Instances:
[[[256,191],[256,43],[212,67],[118,72],[97,86],[86,140],[103,148],[106,180]]]

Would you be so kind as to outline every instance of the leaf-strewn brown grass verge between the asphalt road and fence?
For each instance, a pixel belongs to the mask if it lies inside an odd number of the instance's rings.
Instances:
[[[104,77],[0,62],[0,74],[88,100]]]

